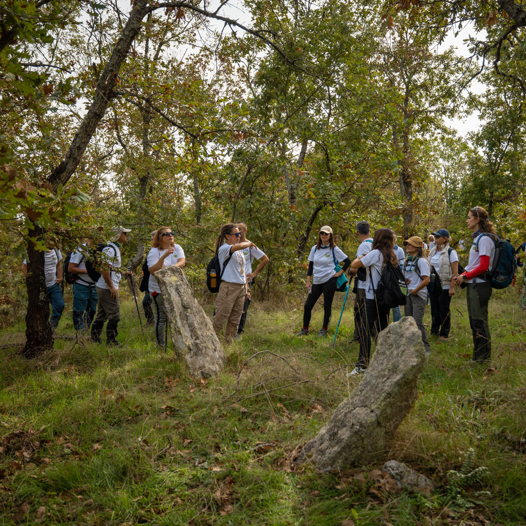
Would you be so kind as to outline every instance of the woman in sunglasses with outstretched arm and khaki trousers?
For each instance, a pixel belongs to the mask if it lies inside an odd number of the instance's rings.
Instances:
[[[219,336],[226,322],[225,343],[231,343],[237,334],[248,291],[245,256],[241,250],[256,248],[252,241],[240,243],[239,236],[239,228],[233,223],[227,223],[221,227],[215,241],[216,254],[222,270],[212,325]]]

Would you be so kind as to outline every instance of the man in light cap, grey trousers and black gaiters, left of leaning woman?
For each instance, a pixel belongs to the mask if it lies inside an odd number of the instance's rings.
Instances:
[[[118,346],[120,343],[116,340],[117,325],[120,320],[120,301],[118,295],[120,277],[131,274],[129,271],[120,271],[120,247],[127,241],[129,228],[122,226],[112,229],[114,240],[107,243],[102,249],[104,264],[100,270],[100,278],[95,284],[97,291],[97,316],[92,323],[91,338],[96,343],[100,343],[100,334],[102,333],[104,323],[106,325],[106,345]]]

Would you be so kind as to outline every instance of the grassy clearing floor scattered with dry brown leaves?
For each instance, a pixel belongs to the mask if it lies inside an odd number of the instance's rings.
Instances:
[[[431,343],[416,407],[381,460],[294,471],[290,453],[361,381],[346,377],[358,355],[351,301],[330,347],[342,299],[328,339],[294,336],[299,303],[254,301],[243,340],[208,381],[185,376],[151,328],[141,332],[131,301],[118,349],[59,339],[27,361],[2,348],[0,524],[525,524],[526,346],[514,290],[491,300],[490,367],[468,365],[457,294],[451,341]],[[70,315],[62,335],[73,333]],[[318,305],[313,328],[321,317]],[[0,343],[23,330],[6,329]],[[426,474],[433,490],[390,489],[378,471],[388,459]]]

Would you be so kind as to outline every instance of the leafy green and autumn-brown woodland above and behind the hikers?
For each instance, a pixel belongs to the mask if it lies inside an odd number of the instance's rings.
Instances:
[[[117,224],[133,268],[173,228],[198,294],[231,220],[270,256],[266,295],[301,286],[324,224],[351,256],[360,219],[457,245],[481,205],[522,242],[525,21],[514,2],[5,0],[4,307],[28,246]],[[476,131],[447,125],[473,112]]]

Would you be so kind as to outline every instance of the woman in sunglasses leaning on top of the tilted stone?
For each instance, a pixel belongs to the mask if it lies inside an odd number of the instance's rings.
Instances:
[[[165,330],[166,330],[166,309],[164,306],[163,295],[161,294],[159,284],[155,279],[155,272],[163,267],[183,268],[186,265],[184,250],[174,243],[174,232],[168,227],[160,227],[151,242],[151,250],[148,252],[148,268],[150,279],[148,281],[148,290],[154,308],[154,327],[155,339],[158,345],[164,347]]]

